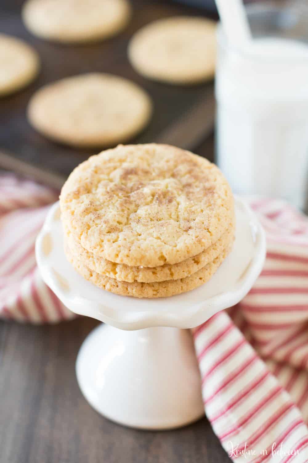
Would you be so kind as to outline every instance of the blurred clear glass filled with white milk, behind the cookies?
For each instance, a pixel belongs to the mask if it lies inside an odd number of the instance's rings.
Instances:
[[[249,49],[229,46],[218,28],[216,162],[235,193],[284,198],[305,209],[308,9],[305,17],[299,6],[249,6]]]

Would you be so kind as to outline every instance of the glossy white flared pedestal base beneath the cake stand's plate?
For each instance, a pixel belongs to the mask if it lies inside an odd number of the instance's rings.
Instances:
[[[171,429],[204,416],[189,330],[99,325],[79,350],[76,373],[91,406],[121,425]]]

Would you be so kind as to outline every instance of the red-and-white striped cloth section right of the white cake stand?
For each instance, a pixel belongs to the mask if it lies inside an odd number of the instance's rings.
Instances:
[[[205,413],[236,462],[308,462],[308,219],[250,203],[265,267],[242,302],[193,330]]]

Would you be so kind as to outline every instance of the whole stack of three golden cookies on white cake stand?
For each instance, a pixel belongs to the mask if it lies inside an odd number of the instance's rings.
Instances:
[[[73,170],[60,195],[65,253],[116,294],[166,297],[207,282],[234,241],[220,170],[169,145],[119,145]]]

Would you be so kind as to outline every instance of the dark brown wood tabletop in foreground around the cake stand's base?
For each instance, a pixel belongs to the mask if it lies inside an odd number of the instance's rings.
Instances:
[[[228,463],[206,419],[173,431],[137,431],[88,405],[75,359],[97,324],[0,322],[0,462]]]

